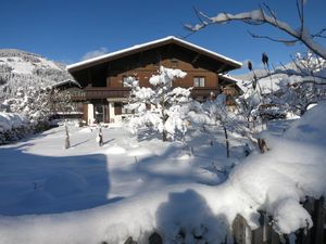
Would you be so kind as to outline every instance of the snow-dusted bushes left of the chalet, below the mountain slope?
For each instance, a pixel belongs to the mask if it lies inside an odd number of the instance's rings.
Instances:
[[[21,88],[16,98],[5,100],[1,107],[4,113],[0,113],[0,143],[49,129],[51,115],[72,110],[68,94],[50,88]]]

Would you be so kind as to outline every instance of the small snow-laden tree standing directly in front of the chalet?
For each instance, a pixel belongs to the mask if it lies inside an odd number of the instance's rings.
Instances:
[[[162,133],[163,141],[174,139],[177,131],[186,132],[185,105],[190,102],[191,88],[173,87],[174,79],[186,75],[180,69],[161,66],[158,75],[149,80],[152,88],[140,87],[139,81],[133,77],[126,80],[126,86],[131,88],[126,107],[135,112],[129,120],[133,132],[147,126]]]

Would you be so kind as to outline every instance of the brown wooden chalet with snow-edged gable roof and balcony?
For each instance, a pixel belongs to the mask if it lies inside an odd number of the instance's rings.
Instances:
[[[78,95],[84,103],[84,119],[87,123],[123,119],[128,114],[123,104],[129,94],[124,79],[135,76],[141,87],[149,87],[149,78],[160,65],[186,72],[187,76],[174,80],[173,86],[193,87],[191,95],[198,100],[218,93],[222,81],[223,86],[233,84],[224,74],[241,67],[235,60],[173,36],[72,64],[67,70],[84,90]],[[237,93],[235,89],[233,94]]]

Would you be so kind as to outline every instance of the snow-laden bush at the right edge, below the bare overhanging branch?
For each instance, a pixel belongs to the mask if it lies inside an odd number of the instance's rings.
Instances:
[[[292,67],[291,67],[292,66]],[[273,73],[283,73],[276,81],[278,90],[266,94],[284,114],[302,115],[308,106],[326,99],[326,62],[311,52],[297,53],[289,67]]]

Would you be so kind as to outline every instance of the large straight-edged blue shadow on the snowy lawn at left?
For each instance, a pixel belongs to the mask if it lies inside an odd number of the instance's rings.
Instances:
[[[25,153],[28,145],[0,147],[0,215],[74,211],[122,198],[108,200],[105,155],[42,156]]]

